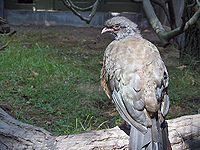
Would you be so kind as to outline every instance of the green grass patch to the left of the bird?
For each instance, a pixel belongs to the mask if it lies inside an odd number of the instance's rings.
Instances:
[[[18,35],[20,40],[0,53],[0,99],[15,117],[56,134],[114,126],[114,118],[105,114],[114,107],[100,89],[102,55],[70,56],[37,36]],[[67,52],[81,54],[81,47]]]

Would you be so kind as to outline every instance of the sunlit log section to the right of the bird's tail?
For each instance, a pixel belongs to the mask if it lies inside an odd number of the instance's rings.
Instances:
[[[183,116],[167,122],[173,150],[199,149],[200,115]]]

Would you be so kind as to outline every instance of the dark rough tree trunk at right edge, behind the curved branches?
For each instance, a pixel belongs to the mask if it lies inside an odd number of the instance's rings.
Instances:
[[[188,0],[186,4],[191,4],[193,0]],[[197,10],[196,7],[187,7],[183,16],[189,20]],[[180,45],[180,61],[184,64],[191,64],[192,61],[200,58],[200,21],[192,25],[185,33]]]

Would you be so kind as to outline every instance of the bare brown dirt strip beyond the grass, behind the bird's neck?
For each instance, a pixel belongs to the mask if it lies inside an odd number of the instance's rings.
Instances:
[[[17,32],[24,33],[38,33],[49,34],[48,40],[50,43],[59,45],[60,47],[73,47],[87,45],[91,50],[105,50],[106,46],[113,40],[112,35],[101,35],[102,28],[95,27],[74,27],[74,26],[13,26]],[[142,36],[157,45],[163,60],[167,66],[174,65],[174,62],[178,62],[179,52],[178,50],[171,49],[169,47],[160,47],[159,39],[152,29],[143,29]],[[173,52],[172,52],[173,51]],[[92,53],[94,51],[88,51]],[[167,56],[167,59],[165,59]],[[173,63],[172,63],[173,62]]]

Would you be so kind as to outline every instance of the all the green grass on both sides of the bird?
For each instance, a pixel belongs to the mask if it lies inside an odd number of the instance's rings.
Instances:
[[[0,52],[0,102],[11,107],[15,118],[59,135],[116,126],[121,118],[100,87],[104,49],[65,43],[59,40],[68,35],[59,36],[22,32],[12,37]],[[1,37],[1,44],[9,40]],[[105,47],[108,42],[104,43]],[[169,118],[198,113],[199,74],[191,67],[169,67],[169,73],[174,107]]]

